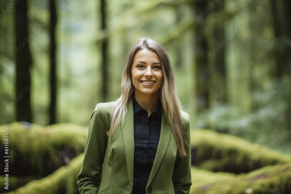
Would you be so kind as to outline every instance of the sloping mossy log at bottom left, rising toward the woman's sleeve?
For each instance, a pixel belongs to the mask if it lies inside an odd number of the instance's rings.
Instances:
[[[36,179],[25,186],[19,187],[6,194],[52,194],[52,193],[72,193],[76,189],[77,175],[81,170],[84,154],[75,157],[70,164],[62,166],[51,175],[41,179]]]

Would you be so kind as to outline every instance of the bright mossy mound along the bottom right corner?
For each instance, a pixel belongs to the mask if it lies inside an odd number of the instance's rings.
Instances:
[[[192,167],[192,170],[194,167]],[[265,166],[249,173],[235,175],[227,172],[210,172],[196,168],[192,174],[191,194],[284,194],[291,192],[291,163]]]

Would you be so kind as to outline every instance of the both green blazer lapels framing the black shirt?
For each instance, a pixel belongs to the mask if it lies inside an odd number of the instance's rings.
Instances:
[[[129,104],[127,106],[127,113],[125,115],[124,124],[121,125],[121,131],[123,136],[123,144],[125,149],[125,159],[127,165],[127,172],[129,183],[133,181],[133,166],[134,166],[134,120],[133,120],[133,106],[132,106],[132,98],[129,100]],[[165,118],[165,112],[162,110],[162,120],[161,120],[161,133],[159,138],[159,143],[157,147],[156,156],[154,159],[154,163],[152,166],[152,170],[150,172],[150,177],[148,180],[147,187],[152,182],[155,177],[157,170],[161,164],[161,161],[164,158],[166,153],[168,143],[170,140],[172,128],[168,124]]]

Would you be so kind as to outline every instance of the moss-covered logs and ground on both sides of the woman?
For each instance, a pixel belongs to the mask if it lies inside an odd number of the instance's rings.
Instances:
[[[78,193],[87,127],[20,122],[8,126],[9,194]],[[0,138],[2,149],[3,134]],[[291,193],[289,155],[206,129],[191,131],[191,147],[191,194]],[[3,185],[3,171],[0,178]]]

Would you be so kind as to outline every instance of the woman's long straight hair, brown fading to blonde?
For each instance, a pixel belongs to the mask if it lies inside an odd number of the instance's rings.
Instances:
[[[109,130],[110,142],[112,141],[113,132],[117,126],[120,124],[120,122],[121,124],[124,123],[125,114],[127,113],[127,105],[134,90],[131,66],[134,55],[140,49],[149,49],[155,51],[159,55],[160,61],[162,63],[162,73],[164,78],[159,90],[159,97],[161,99],[162,108],[165,111],[166,120],[172,127],[173,134],[178,146],[178,154],[182,158],[187,155],[183,142],[185,142],[185,145],[188,145],[188,143],[185,140],[183,131],[184,123],[182,122],[182,106],[176,92],[171,61],[164,47],[158,42],[149,38],[141,38],[138,40],[127,55],[121,78],[121,95],[114,102],[114,106],[111,112],[111,125]]]

